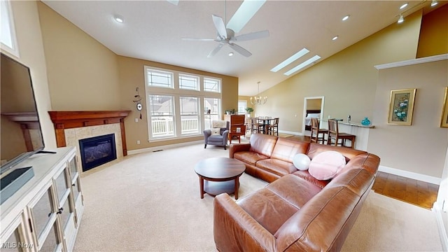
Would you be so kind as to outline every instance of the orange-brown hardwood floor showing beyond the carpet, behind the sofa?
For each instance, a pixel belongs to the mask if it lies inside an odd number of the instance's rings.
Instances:
[[[293,136],[288,138],[309,141],[309,137],[304,136]],[[381,195],[393,197],[394,199],[426,209],[431,209],[433,208],[434,202],[437,200],[439,186],[432,183],[388,174],[386,172],[377,172],[377,178],[375,179],[372,190]]]

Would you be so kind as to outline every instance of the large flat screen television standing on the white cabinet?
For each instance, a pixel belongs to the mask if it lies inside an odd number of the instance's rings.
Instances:
[[[1,53],[0,69],[0,174],[4,174],[21,168],[20,162],[45,146],[29,67]]]

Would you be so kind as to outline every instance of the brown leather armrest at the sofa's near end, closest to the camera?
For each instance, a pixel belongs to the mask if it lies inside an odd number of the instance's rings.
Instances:
[[[218,251],[276,251],[276,239],[227,193],[214,200],[214,239]]]

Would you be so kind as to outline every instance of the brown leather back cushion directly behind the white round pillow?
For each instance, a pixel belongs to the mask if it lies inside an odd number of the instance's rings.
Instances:
[[[272,151],[271,158],[292,163],[295,154],[307,153],[308,148],[309,142],[279,137],[276,141],[274,151]]]

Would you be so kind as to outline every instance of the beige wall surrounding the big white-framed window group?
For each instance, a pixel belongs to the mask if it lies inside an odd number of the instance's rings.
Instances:
[[[183,71],[187,73],[196,73],[204,76],[216,77],[222,79],[222,106],[221,113],[224,114],[226,108],[237,108],[238,105],[238,78],[231,76],[223,76],[216,73],[209,73],[198,71],[195,69],[186,69],[180,66],[172,66],[158,62],[151,62],[143,59],[135,59],[131,57],[118,57],[119,71],[120,71],[120,88],[121,88],[121,108],[129,109],[132,112],[130,116],[125,119],[126,127],[126,142],[127,150],[137,150],[140,148],[150,148],[154,146],[163,146],[167,144],[179,144],[188,141],[197,141],[204,139],[200,137],[189,137],[185,139],[175,139],[169,141],[155,141],[148,142],[148,116],[146,111],[146,97],[145,97],[145,79],[144,66],[154,66],[162,69],[171,69],[174,71]],[[139,93],[142,97],[141,104],[144,109],[141,111],[142,120],[135,123],[134,118],[140,117],[140,112],[135,109],[135,104],[132,102],[136,94],[136,87],[139,87]],[[137,145],[137,140],[141,144]]]

